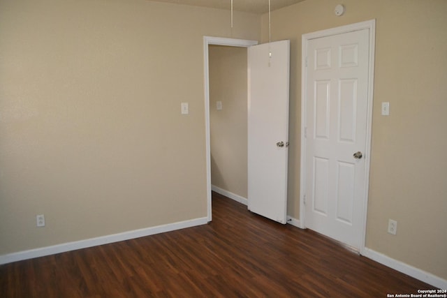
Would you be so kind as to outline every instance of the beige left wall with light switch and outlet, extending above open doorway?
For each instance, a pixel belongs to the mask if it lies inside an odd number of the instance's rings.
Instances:
[[[203,36],[256,40],[260,20],[1,0],[0,255],[206,217]]]

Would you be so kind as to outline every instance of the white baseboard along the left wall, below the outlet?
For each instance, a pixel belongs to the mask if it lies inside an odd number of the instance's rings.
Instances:
[[[66,251],[75,251],[80,248],[87,248],[91,246],[98,246],[103,244],[110,244],[112,242],[124,241],[129,239],[135,239],[139,237],[145,237],[153,234],[159,234],[163,232],[170,232],[173,230],[180,230],[184,228],[191,228],[196,225],[205,225],[207,223],[207,217],[191,219],[189,221],[179,221],[178,223],[168,223],[167,225],[158,225],[152,228],[143,228],[139,230],[132,230],[128,232],[122,232],[118,234],[110,234],[106,236],[85,239],[80,241],[73,241],[64,244],[57,244],[54,246],[46,246],[42,248],[30,249],[29,251],[19,251],[17,253],[8,253],[6,255],[0,255],[0,265],[17,262],[21,260],[27,260],[32,258],[43,257],[45,255],[54,255],[56,253],[65,253]]]

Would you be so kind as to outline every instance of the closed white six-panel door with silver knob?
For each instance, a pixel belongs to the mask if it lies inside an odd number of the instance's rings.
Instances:
[[[359,249],[365,217],[369,30],[309,40],[305,225]]]

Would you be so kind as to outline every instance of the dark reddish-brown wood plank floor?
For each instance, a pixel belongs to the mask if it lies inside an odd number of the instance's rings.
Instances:
[[[433,288],[213,193],[213,221],[0,266],[0,297],[386,297]]]

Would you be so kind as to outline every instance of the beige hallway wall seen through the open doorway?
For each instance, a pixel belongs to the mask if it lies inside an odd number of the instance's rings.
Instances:
[[[211,45],[209,57],[211,183],[247,198],[247,48]]]

